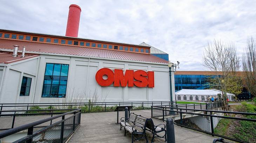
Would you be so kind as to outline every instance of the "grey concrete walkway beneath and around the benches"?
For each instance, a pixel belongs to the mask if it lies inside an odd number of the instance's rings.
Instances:
[[[151,110],[135,110],[131,111],[147,118],[151,116]],[[119,118],[124,116],[124,112],[119,112]],[[164,123],[154,120],[154,124]],[[120,119],[119,119],[120,121]],[[131,135],[127,133],[124,136],[124,130],[120,130],[120,125],[116,125],[116,112],[102,113],[83,113],[81,114],[81,126],[76,130],[70,138],[69,143],[130,143]],[[147,132],[147,138],[151,141],[152,135]],[[214,138],[207,134],[203,134],[194,130],[175,126],[176,143],[212,143]],[[135,141],[135,143],[146,142],[146,140]],[[162,138],[156,138],[154,142],[164,142]]]

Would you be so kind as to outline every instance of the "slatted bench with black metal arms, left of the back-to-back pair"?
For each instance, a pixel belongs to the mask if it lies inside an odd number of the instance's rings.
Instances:
[[[125,118],[121,118],[120,130],[122,127],[124,127],[124,136],[126,136],[126,132],[130,132],[132,135],[132,143],[134,139],[140,140],[142,138],[145,138],[148,143],[148,139],[146,136],[146,125],[148,122],[148,118],[131,113],[127,121],[123,121],[122,119]],[[137,137],[136,135],[141,135],[141,137]]]

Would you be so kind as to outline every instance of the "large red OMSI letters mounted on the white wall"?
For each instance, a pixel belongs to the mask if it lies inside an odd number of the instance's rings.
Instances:
[[[105,80],[103,76],[106,75],[107,79]],[[96,73],[96,81],[101,86],[109,86],[114,82],[114,86],[125,87],[128,84],[128,87],[133,87],[134,85],[140,88],[149,87],[153,88],[154,85],[154,71],[144,70],[126,70],[123,75],[122,69],[115,69],[113,72],[109,68],[102,68]],[[135,79],[135,80],[134,80]]]

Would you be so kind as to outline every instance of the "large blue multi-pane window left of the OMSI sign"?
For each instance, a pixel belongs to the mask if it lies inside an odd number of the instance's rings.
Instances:
[[[46,63],[42,97],[65,98],[69,65]]]

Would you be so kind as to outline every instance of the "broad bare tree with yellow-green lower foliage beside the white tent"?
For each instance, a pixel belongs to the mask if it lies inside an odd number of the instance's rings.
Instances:
[[[215,72],[215,79],[212,80],[214,86],[212,87],[221,90],[224,99],[227,99],[227,92],[230,92],[230,84],[234,83],[230,82],[230,78],[236,76],[236,71],[239,70],[239,61],[234,43],[224,44],[221,40],[214,40],[213,43],[208,43],[204,47],[203,65]],[[224,108],[227,109],[227,100],[224,105]]]

